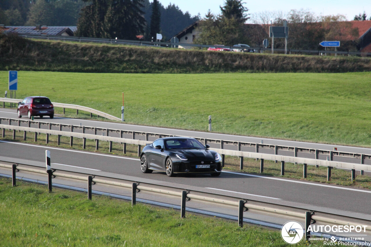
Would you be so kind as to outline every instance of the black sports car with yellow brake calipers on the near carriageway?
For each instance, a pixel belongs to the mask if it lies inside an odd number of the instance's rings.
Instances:
[[[197,139],[189,137],[166,137],[146,144],[140,161],[141,170],[151,173],[153,170],[164,171],[169,177],[177,173],[221,174],[221,156],[209,150]]]

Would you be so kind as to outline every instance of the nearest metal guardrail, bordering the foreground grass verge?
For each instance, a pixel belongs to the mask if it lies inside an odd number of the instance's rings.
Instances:
[[[48,161],[47,161],[48,162]],[[49,160],[50,165],[50,160]],[[220,207],[238,209],[239,225],[242,227],[243,212],[255,213],[260,215],[268,215],[272,217],[285,218],[296,221],[306,222],[306,229],[310,224],[325,224],[325,225],[365,225],[367,233],[371,233],[371,221],[361,218],[348,217],[345,215],[336,215],[321,211],[313,211],[310,208],[291,207],[287,205],[280,205],[271,202],[247,200],[244,198],[232,197],[227,195],[220,195],[210,192],[188,190],[187,187],[169,187],[165,185],[152,184],[141,181],[131,181],[118,179],[113,177],[104,177],[98,175],[84,174],[80,172],[71,172],[61,169],[53,169],[52,172],[46,172],[45,168],[26,165],[13,164],[12,162],[0,161],[0,167],[13,170],[13,186],[16,185],[16,172],[32,172],[37,174],[48,175],[49,191],[52,188],[52,176],[56,178],[69,178],[79,181],[88,181],[88,198],[91,200],[91,186],[93,184],[102,184],[116,186],[124,190],[132,191],[132,205],[135,205],[136,193],[144,192],[146,194],[162,195],[172,198],[181,198],[181,217],[185,216],[186,201],[196,201],[204,204],[213,204]],[[89,184],[90,183],[90,184]],[[185,195],[185,196],[184,196]],[[308,218],[309,215],[309,218]],[[312,221],[312,223],[311,223]],[[306,236],[308,237],[308,236]]]

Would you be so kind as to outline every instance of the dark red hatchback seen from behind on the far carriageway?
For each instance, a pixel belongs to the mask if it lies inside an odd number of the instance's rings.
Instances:
[[[22,116],[50,116],[54,118],[53,104],[49,98],[43,96],[31,96],[24,98],[22,102],[18,102],[17,114],[19,118]]]

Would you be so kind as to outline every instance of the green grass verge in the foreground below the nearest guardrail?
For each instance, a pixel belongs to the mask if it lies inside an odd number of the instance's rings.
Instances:
[[[1,246],[288,246],[279,231],[0,178]],[[295,246],[307,246],[303,241]],[[314,242],[310,246],[322,246]]]

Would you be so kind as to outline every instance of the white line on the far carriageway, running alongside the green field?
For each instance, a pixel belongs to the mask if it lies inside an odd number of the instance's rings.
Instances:
[[[6,113],[14,113],[16,112],[7,112],[7,111],[0,111],[0,112],[6,112]],[[93,120],[85,120],[85,119],[77,119],[77,118],[62,118],[58,117],[59,119],[70,119],[73,121],[87,121],[87,122],[100,122],[101,121],[93,121]],[[130,124],[125,124],[125,123],[112,123],[108,122],[109,124],[115,124],[115,125],[121,125],[121,126],[137,126],[137,127],[144,127],[144,128],[152,128],[152,129],[165,129],[169,131],[184,131],[184,132],[191,132],[191,133],[199,133],[199,134],[211,134],[211,135],[223,135],[223,136],[230,136],[230,137],[242,137],[242,138],[252,138],[254,140],[265,140],[265,141],[282,141],[282,142],[291,142],[291,143],[296,143],[296,144],[310,144],[310,145],[323,145],[325,147],[328,147],[332,149],[334,146],[337,146],[338,148],[356,148],[358,150],[364,150],[370,152],[369,148],[361,148],[361,147],[354,147],[354,146],[341,146],[341,145],[329,145],[329,144],[321,144],[321,143],[313,143],[313,142],[298,142],[298,141],[288,141],[288,140],[281,140],[281,139],[268,139],[268,138],[258,138],[258,137],[252,137],[252,136],[243,136],[243,135],[228,135],[228,134],[219,134],[219,133],[206,133],[206,132],[201,132],[201,131],[190,131],[190,130],[185,130],[185,129],[170,129],[170,128],[162,128],[162,127],[153,127],[153,126],[144,126],[144,125],[130,125]],[[270,143],[270,144],[275,144],[275,143]],[[277,144],[277,145],[289,145],[289,144]],[[344,152],[350,152],[350,151],[344,151]]]

